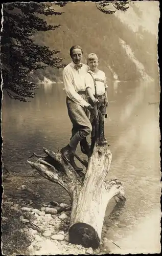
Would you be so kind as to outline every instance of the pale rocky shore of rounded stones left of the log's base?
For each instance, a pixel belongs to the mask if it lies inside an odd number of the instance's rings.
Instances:
[[[11,210],[14,209],[21,213],[17,221],[25,224],[23,231],[31,241],[27,248],[29,255],[103,254],[108,252],[101,248],[93,250],[69,242],[70,205],[52,201],[49,205],[42,204],[40,208],[34,208],[30,205],[32,202],[28,205],[20,205],[4,196],[3,199],[3,204],[8,204]],[[5,218],[7,221],[7,217],[3,214],[3,221]]]

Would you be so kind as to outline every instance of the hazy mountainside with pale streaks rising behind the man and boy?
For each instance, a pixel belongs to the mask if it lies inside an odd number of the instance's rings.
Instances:
[[[60,24],[61,27],[55,31],[39,32],[34,39],[38,44],[60,50],[59,56],[66,64],[71,61],[69,49],[73,45],[83,48],[84,63],[88,53],[96,53],[99,69],[106,73],[108,80],[158,79],[157,32],[154,29],[158,26],[158,6],[152,6],[154,9],[149,18],[154,27],[151,31],[144,15],[147,9],[140,8],[138,1],[132,3],[126,12],[117,11],[115,14],[102,13],[93,2],[68,3],[61,16],[45,17],[48,24]],[[35,77],[43,80],[44,76],[61,81],[62,70],[47,68],[37,72]]]

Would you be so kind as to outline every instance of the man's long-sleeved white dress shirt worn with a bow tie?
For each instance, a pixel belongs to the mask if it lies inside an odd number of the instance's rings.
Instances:
[[[82,67],[76,70],[75,63],[69,63],[62,72],[65,93],[68,98],[84,107],[85,100],[78,94],[79,91],[85,91],[85,74],[89,67],[82,63]]]

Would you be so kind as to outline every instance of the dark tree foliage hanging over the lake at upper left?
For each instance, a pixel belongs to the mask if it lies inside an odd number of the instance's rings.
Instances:
[[[60,7],[66,3],[55,3]],[[3,90],[13,99],[27,101],[33,98],[37,84],[31,81],[31,72],[45,67],[59,69],[65,65],[57,56],[58,50],[35,44],[38,31],[55,30],[60,25],[48,25],[42,15],[61,15],[51,3],[6,3],[3,5],[1,37],[1,68]]]

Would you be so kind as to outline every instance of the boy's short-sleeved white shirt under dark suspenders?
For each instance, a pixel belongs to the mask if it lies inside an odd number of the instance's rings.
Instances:
[[[94,73],[91,70],[89,70],[86,73],[86,75],[85,75],[85,88],[90,87],[91,90],[92,90],[92,94],[94,94],[94,95],[95,95],[95,84],[94,84],[93,78],[91,77],[91,75],[89,73],[92,74],[92,76],[94,77],[94,79],[96,81],[97,95],[103,95],[106,92],[105,88],[107,88],[105,73],[101,70],[98,70],[97,73]]]

